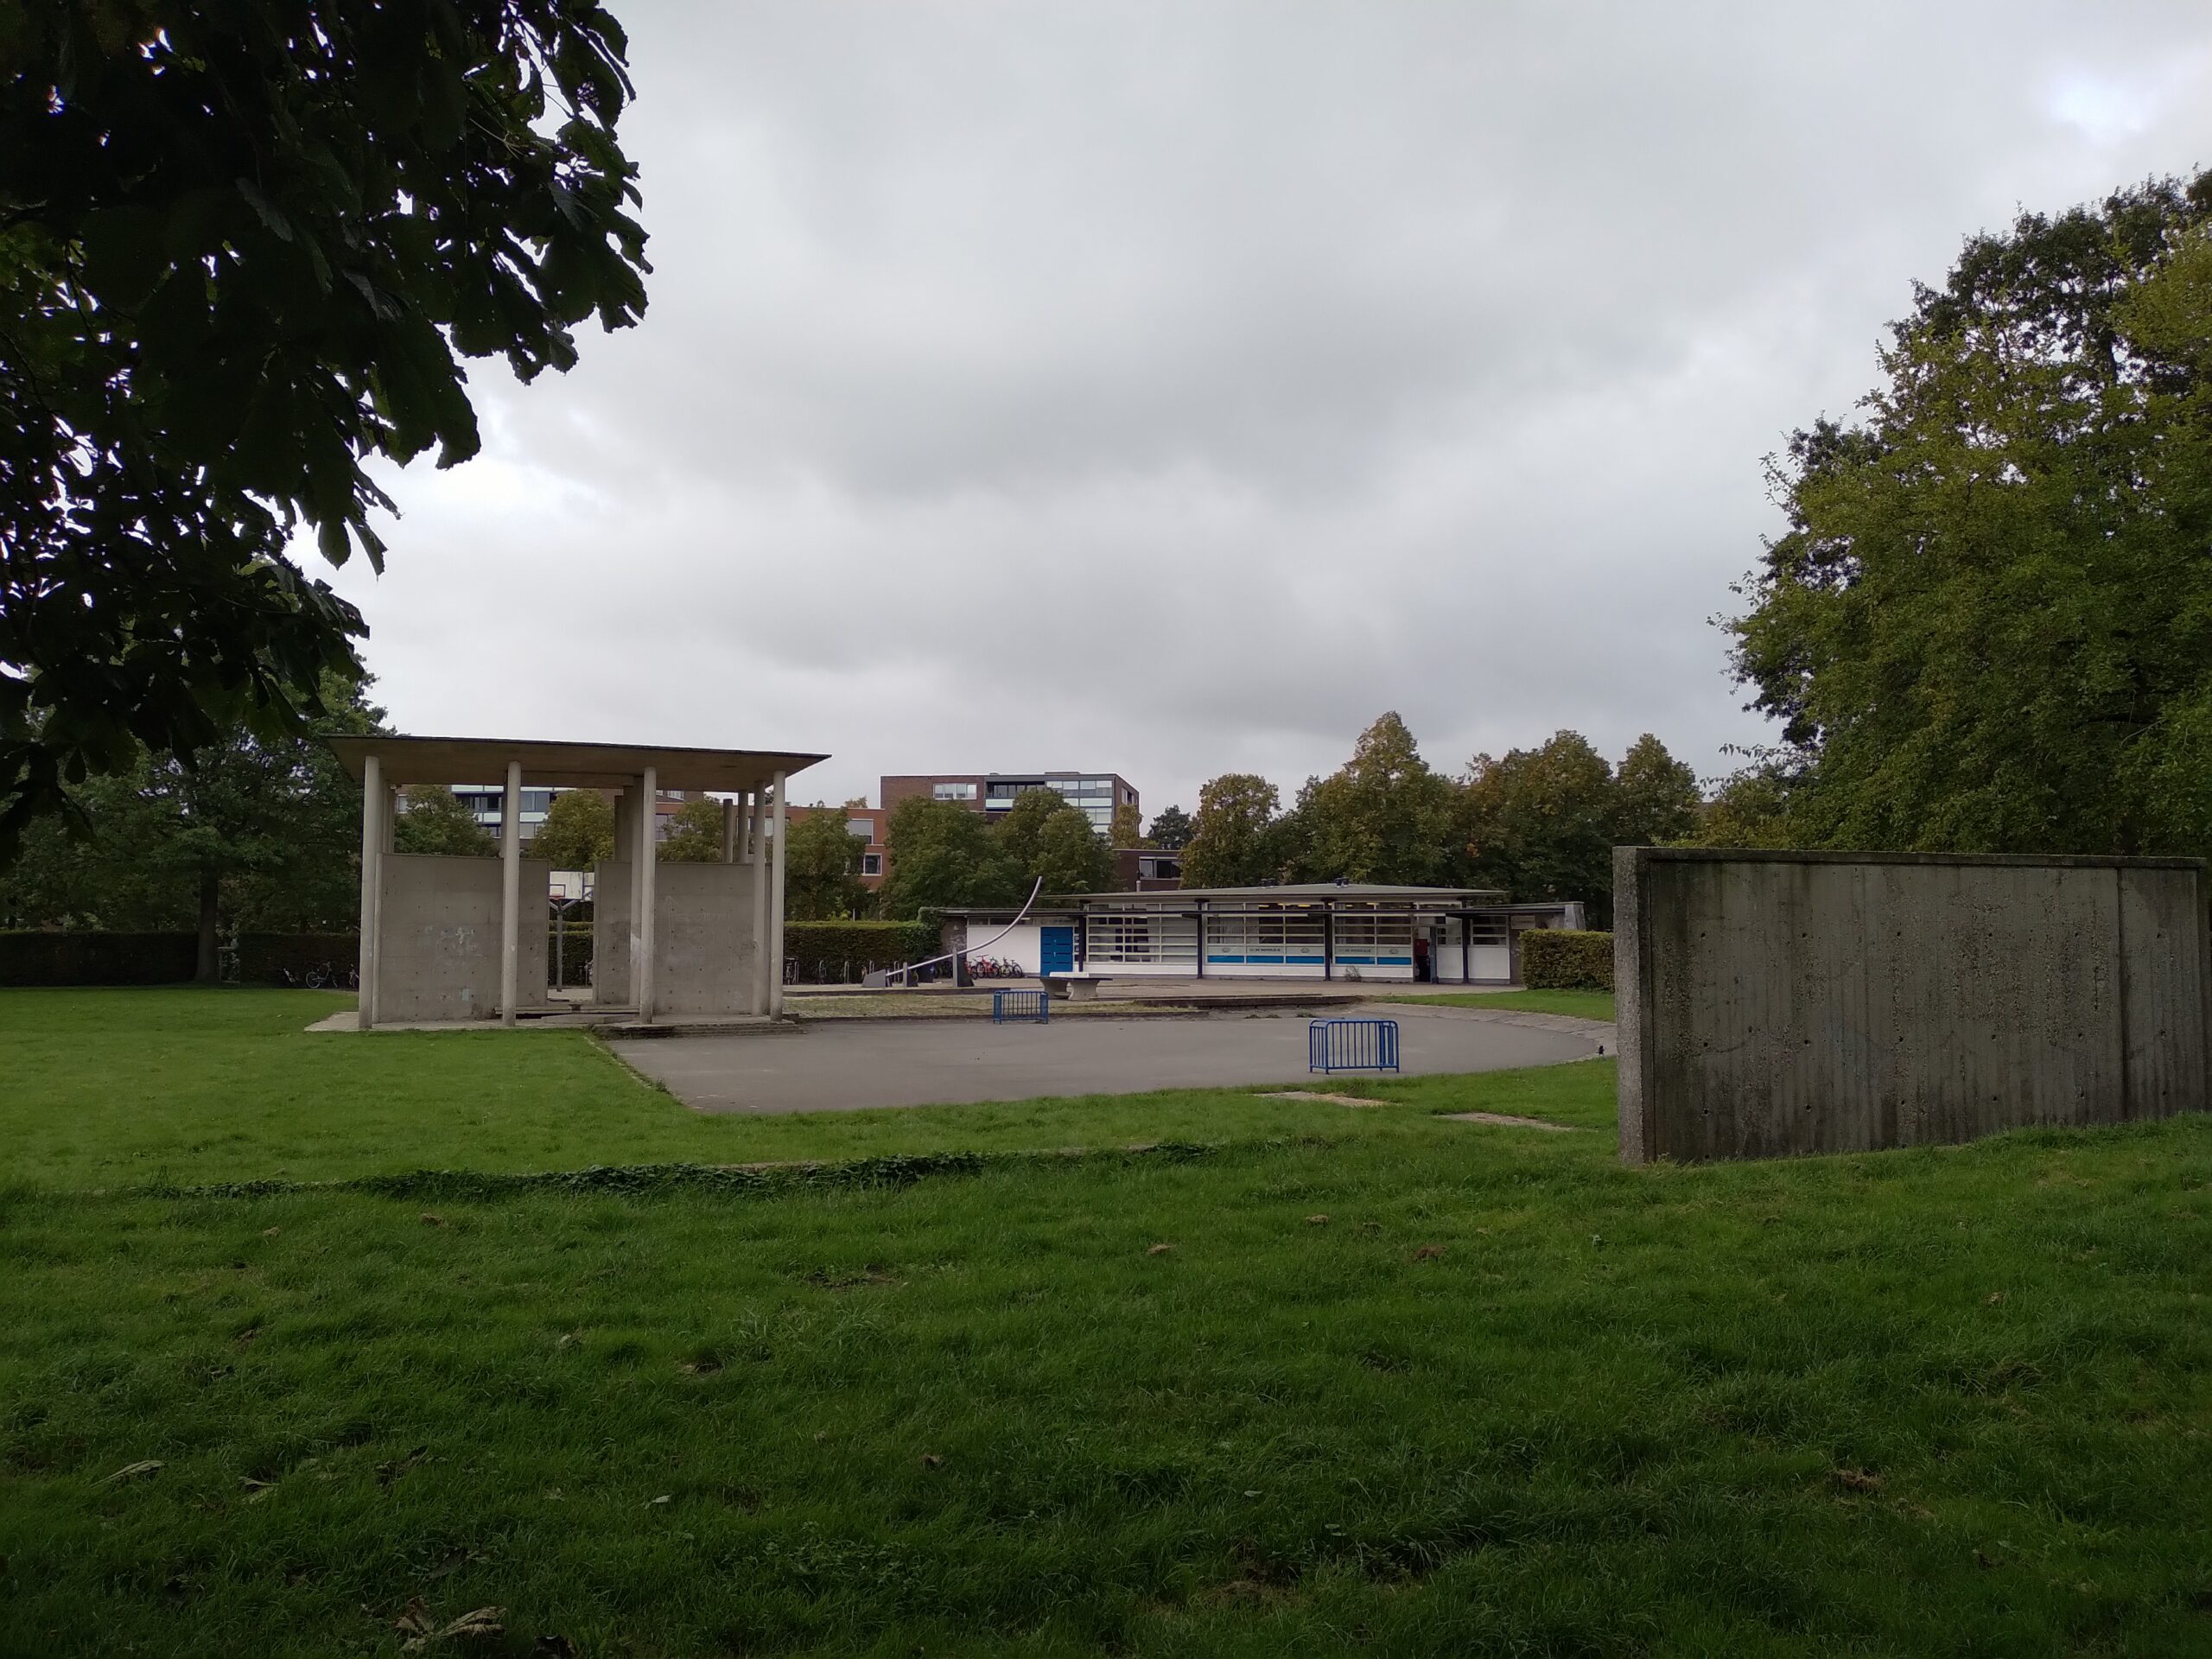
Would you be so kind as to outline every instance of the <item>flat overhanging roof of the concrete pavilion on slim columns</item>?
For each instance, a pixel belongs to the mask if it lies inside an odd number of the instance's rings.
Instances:
[[[803,772],[827,754],[692,750],[659,743],[555,743],[533,737],[330,737],[347,776],[374,754],[385,783],[498,783],[509,761],[522,779],[555,790],[622,790],[653,768],[661,790],[765,790],[776,772]]]

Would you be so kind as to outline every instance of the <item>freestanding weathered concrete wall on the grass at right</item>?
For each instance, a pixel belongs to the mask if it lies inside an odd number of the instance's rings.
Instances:
[[[1621,1157],[2205,1110],[2192,860],[1615,849]]]

